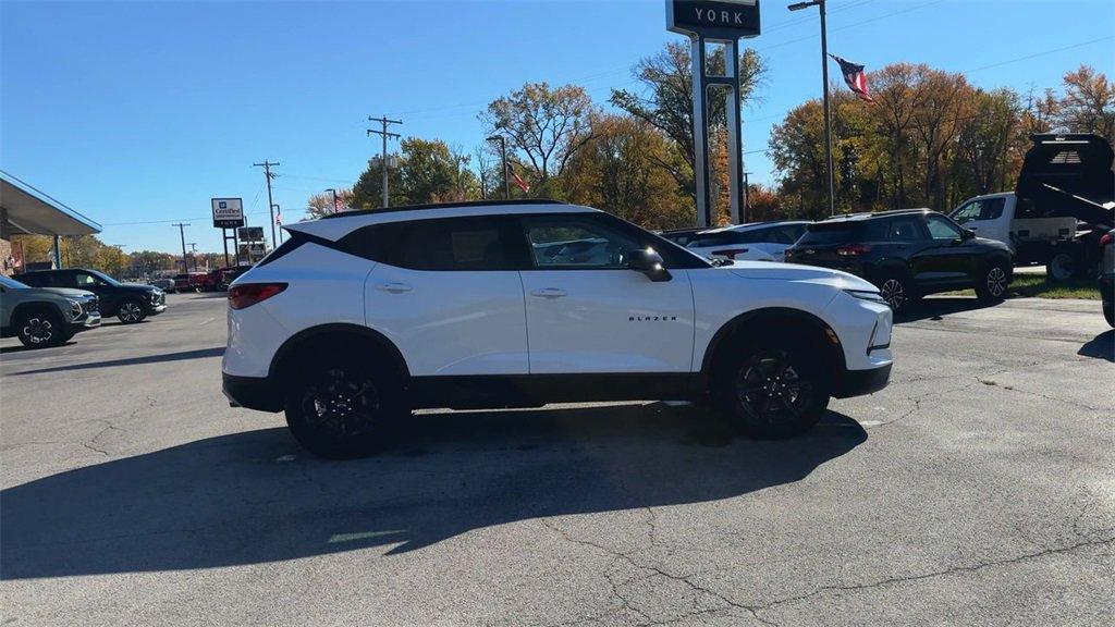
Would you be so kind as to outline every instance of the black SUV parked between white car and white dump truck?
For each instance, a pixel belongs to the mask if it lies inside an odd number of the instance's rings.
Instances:
[[[851,272],[871,281],[898,311],[924,295],[976,288],[1001,300],[1014,268],[1010,249],[928,209],[838,215],[811,224],[786,261]]]

